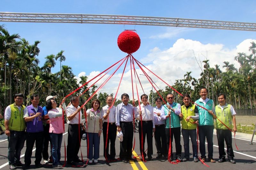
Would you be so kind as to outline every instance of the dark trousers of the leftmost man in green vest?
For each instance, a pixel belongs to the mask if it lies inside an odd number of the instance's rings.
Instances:
[[[9,165],[20,162],[20,152],[24,147],[26,132],[10,130],[8,137],[8,161]]]

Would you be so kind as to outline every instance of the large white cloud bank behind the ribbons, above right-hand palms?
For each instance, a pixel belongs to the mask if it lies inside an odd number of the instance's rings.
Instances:
[[[197,57],[197,59],[200,59],[201,61],[206,60],[206,58],[210,60],[210,67],[214,67],[215,64],[218,64],[220,65],[220,69],[225,70],[222,68],[222,66],[224,65],[223,62],[228,61],[230,64],[234,63],[235,66],[238,68],[239,64],[236,61],[234,61],[234,56],[236,56],[237,52],[249,53],[248,48],[250,47],[250,42],[252,41],[256,40],[247,39],[238,44],[236,48],[228,49],[225,48],[223,44],[202,44],[199,41],[193,41],[189,39],[178,39],[172,45],[172,47],[170,47],[167,50],[161,50],[158,47],[151,49],[147,57],[140,59],[140,62],[143,63],[149,70],[154,72],[157,76],[162,78],[166,83],[168,83],[169,85],[173,85],[176,79],[182,79],[184,77],[186,71],[192,71],[192,77],[200,77],[201,70],[198,64],[196,63],[194,54]],[[120,85],[120,89],[117,94],[117,99],[120,99],[121,94],[124,92],[128,93],[130,95],[130,98],[132,98],[131,70],[130,65],[128,64],[126,72],[124,73],[123,80]],[[121,69],[123,70],[123,68],[120,68],[120,70]],[[156,78],[156,76],[150,73],[147,69],[143,69],[146,71],[148,76],[150,76],[153,79],[153,81],[160,89],[165,89],[165,86],[167,86],[165,83],[163,83],[160,79]],[[139,75],[144,92],[146,94],[149,94],[149,91],[152,88],[151,84],[149,83],[146,76],[140,75],[144,73],[139,69],[138,66],[136,67],[136,71]],[[92,71],[89,75],[87,75],[88,80],[92,79],[99,73],[100,71]],[[99,82],[96,83],[96,85],[100,87],[100,85],[105,81],[105,79],[110,74],[111,73],[102,78]],[[81,72],[79,75],[85,75],[85,73]],[[106,83],[106,85],[102,88],[104,89],[102,92],[106,92],[108,94],[114,93],[115,95],[121,75],[122,74],[120,73],[115,74],[109,80],[109,82]],[[98,78],[100,78],[100,76]],[[98,80],[98,78],[93,80],[91,83]],[[136,80],[140,96],[143,92],[140,87],[138,78],[136,78]],[[134,96],[135,98],[137,98],[134,78],[133,82]]]

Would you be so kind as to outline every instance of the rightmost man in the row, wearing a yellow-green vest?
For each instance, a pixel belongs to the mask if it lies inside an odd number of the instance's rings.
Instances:
[[[236,132],[236,112],[232,105],[226,103],[226,95],[220,93],[218,95],[218,102],[220,103],[215,107],[216,117],[220,119],[229,129],[232,129],[232,122],[234,124],[233,131]],[[232,148],[232,133],[224,126],[218,119],[216,119],[216,132],[219,145],[219,160],[218,162],[225,162],[224,140],[227,144],[228,162],[235,164],[234,152]]]

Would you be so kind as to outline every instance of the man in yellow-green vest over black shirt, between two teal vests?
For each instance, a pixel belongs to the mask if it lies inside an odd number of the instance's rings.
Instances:
[[[189,160],[189,137],[192,142],[193,159],[194,162],[198,162],[197,144],[196,144],[196,120],[199,119],[198,109],[196,105],[190,103],[191,99],[189,94],[183,95],[184,105],[181,106],[180,118],[181,121],[181,133],[184,141],[184,159],[186,162]]]

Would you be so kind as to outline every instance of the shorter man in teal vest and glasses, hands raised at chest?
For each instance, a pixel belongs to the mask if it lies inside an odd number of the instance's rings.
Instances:
[[[168,93],[166,96],[167,104],[161,109],[161,118],[165,120],[165,135],[167,142],[167,153],[169,153],[170,138],[171,138],[171,153],[172,153],[172,139],[174,136],[176,159],[182,162],[181,159],[181,144],[180,144],[180,112],[181,106],[179,103],[174,102],[174,96],[172,93]],[[171,129],[170,129],[171,127]],[[171,136],[170,136],[171,130]],[[171,160],[172,160],[172,155]]]

